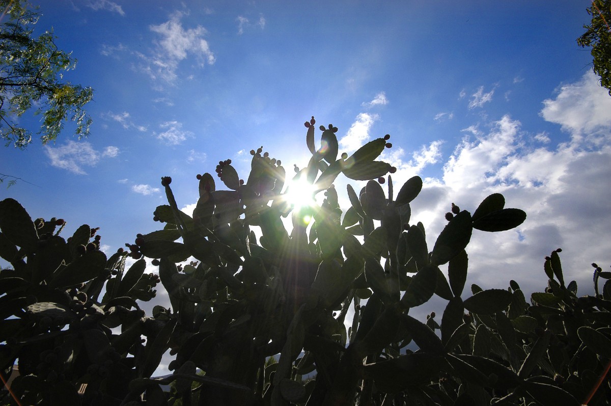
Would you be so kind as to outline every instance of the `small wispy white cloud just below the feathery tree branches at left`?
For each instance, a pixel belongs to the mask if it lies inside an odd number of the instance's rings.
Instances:
[[[96,166],[100,158],[114,158],[119,154],[117,147],[106,147],[103,153],[93,149],[87,141],[68,141],[60,147],[45,146],[45,154],[50,160],[51,166],[66,169],[79,175],[86,175],[84,170],[87,166]]]

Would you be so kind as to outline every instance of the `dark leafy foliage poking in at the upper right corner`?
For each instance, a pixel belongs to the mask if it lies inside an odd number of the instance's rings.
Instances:
[[[594,73],[600,76],[601,85],[609,89],[611,95],[611,0],[593,0],[587,9],[592,16],[587,30],[577,39],[580,46],[591,46]]]

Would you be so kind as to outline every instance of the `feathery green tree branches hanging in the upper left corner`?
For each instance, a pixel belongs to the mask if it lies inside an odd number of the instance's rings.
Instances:
[[[42,114],[40,139],[54,141],[64,122],[76,122],[79,139],[89,134],[91,118],[83,106],[93,98],[90,87],[63,81],[62,71],[75,68],[71,53],[58,50],[53,32],[32,37],[38,23],[37,10],[26,0],[0,0],[5,21],[0,26],[0,136],[6,146],[24,149],[32,133],[15,117],[36,106]]]

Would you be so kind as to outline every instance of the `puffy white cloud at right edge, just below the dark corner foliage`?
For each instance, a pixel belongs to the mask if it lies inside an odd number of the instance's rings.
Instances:
[[[557,97],[544,100],[543,106],[541,117],[576,136],[611,126],[611,96],[591,71],[579,82],[560,87]]]

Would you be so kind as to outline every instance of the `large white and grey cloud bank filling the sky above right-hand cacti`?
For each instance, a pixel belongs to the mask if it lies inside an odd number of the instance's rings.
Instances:
[[[467,247],[471,260],[466,295],[472,283],[489,289],[505,287],[510,279],[519,282],[527,297],[542,291],[544,256],[556,248],[563,248],[565,281],[576,280],[581,295],[592,292],[590,263],[611,264],[603,243],[611,239],[611,188],[606,186],[611,179],[611,139],[601,136],[599,144],[588,142],[592,133],[609,134],[611,122],[606,118],[609,110],[601,109],[607,99],[599,97],[600,89],[589,80],[563,86],[541,113],[571,131],[569,142],[554,144],[547,133],[538,133],[529,136],[540,142],[532,147],[523,140],[529,133],[506,115],[487,128],[472,126],[470,137],[475,139],[465,138],[444,160],[433,144],[415,154],[409,166],[401,161],[401,150],[386,152],[387,160],[401,165],[392,175],[395,191],[419,168],[444,163],[443,175],[425,178],[420,196],[411,204],[410,223],[425,224],[429,249],[447,224],[444,213],[452,202],[473,213],[483,198],[502,193],[505,207],[527,213],[517,229],[474,231]],[[584,105],[590,113],[580,116]],[[555,114],[549,116],[551,111]]]

